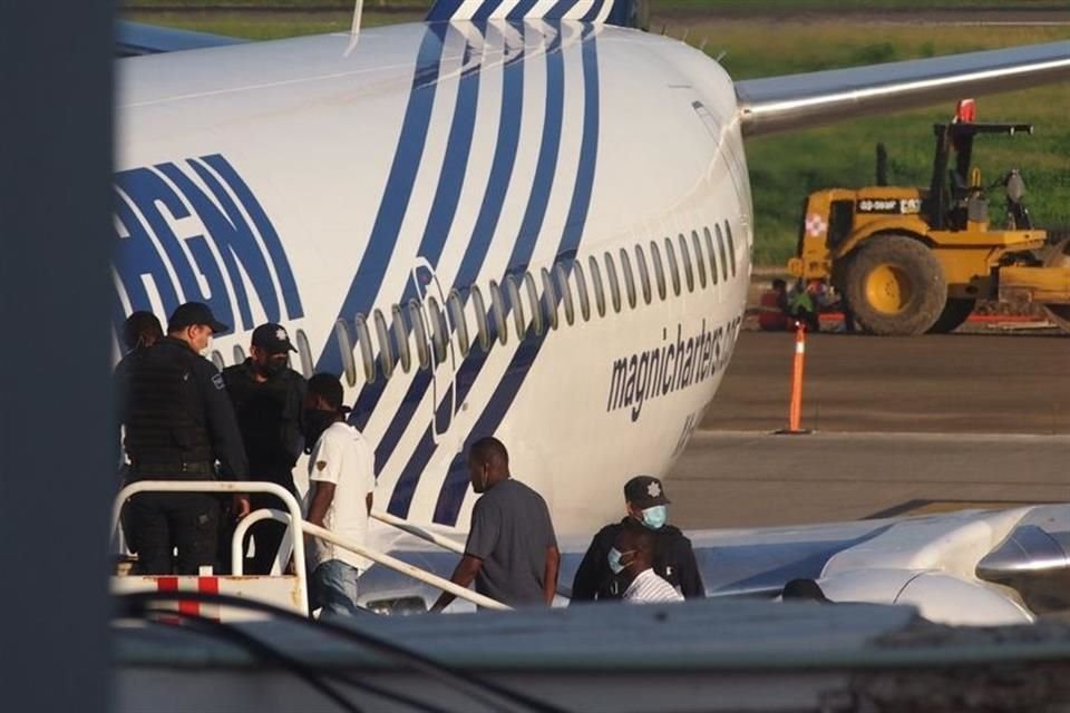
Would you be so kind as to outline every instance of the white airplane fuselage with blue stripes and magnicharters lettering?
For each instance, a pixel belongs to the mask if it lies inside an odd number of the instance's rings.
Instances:
[[[483,436],[563,533],[620,514],[628,478],[668,472],[728,364],[751,267],[716,62],[526,21],[118,67],[116,323],[206,302],[234,326],[212,345],[227,365],[282,323],[294,369],[342,374],[377,507],[416,522],[467,529],[458,453]]]

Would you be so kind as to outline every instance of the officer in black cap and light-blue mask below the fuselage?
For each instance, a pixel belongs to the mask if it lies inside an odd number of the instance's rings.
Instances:
[[[620,599],[629,582],[610,569],[609,555],[624,528],[645,528],[655,535],[654,573],[688,599],[706,596],[706,587],[694,560],[691,540],[678,528],[667,525],[669,498],[661,480],[636,476],[624,484],[628,516],[606,525],[591,540],[572,583],[572,602]]]

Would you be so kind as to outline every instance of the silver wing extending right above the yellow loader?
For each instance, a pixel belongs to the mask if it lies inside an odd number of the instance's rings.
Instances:
[[[1070,41],[736,82],[745,136],[1070,81]]]

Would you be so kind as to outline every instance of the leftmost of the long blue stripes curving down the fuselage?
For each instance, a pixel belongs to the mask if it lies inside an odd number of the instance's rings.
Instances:
[[[435,90],[446,46],[446,29],[445,25],[428,26],[420,42],[416,70],[412,75],[412,87],[409,91],[409,104],[405,110],[405,120],[395,149],[390,176],[379,204],[379,213],[376,216],[371,237],[368,240],[368,247],[361,257],[349,292],[342,301],[342,306],[338,311],[339,319],[351,320],[358,312],[367,314],[374,304],[376,295],[386,276],[427,145],[428,125],[435,105]],[[337,374],[341,372],[341,346],[335,340],[329,338],[315,369]]]

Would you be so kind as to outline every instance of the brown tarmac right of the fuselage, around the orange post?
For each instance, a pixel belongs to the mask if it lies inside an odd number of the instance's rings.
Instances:
[[[1070,336],[807,340],[805,436],[787,419],[794,336],[743,332],[671,473],[683,528],[1070,501]]]

